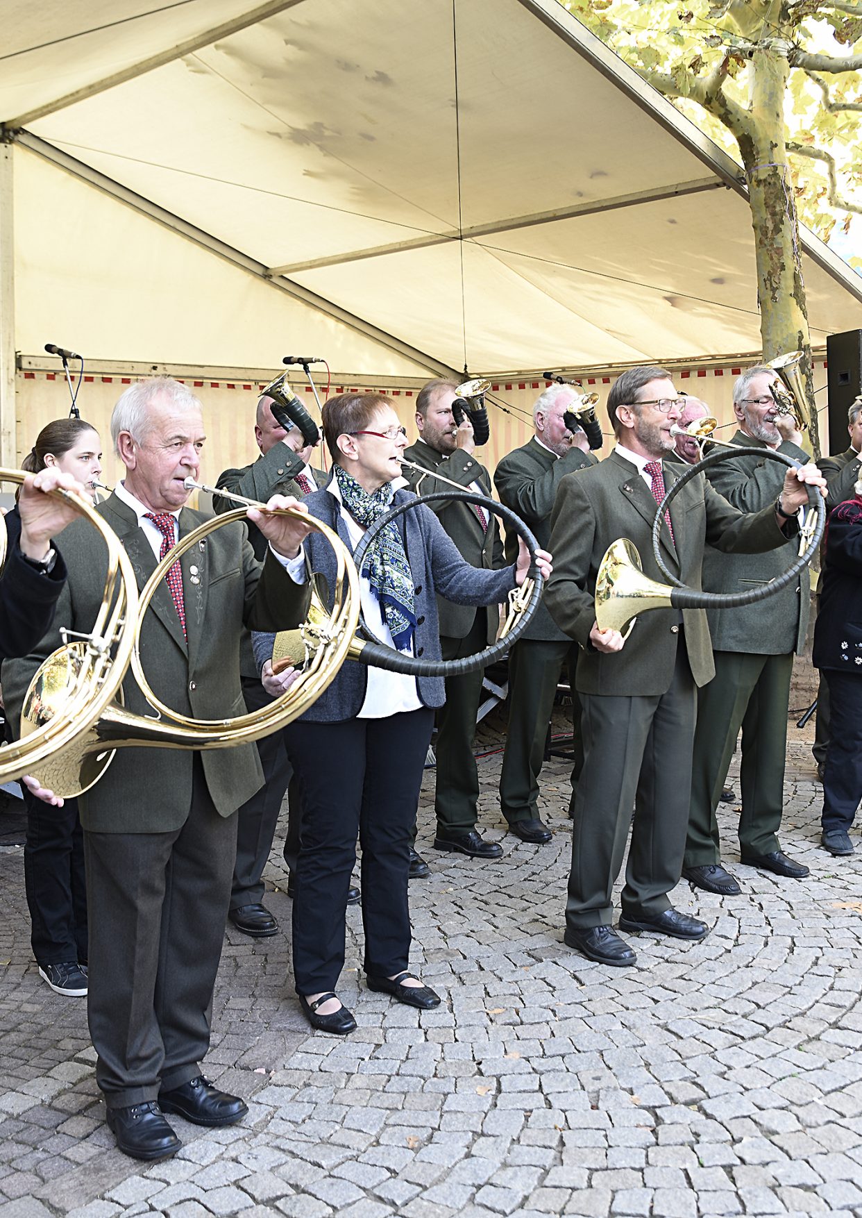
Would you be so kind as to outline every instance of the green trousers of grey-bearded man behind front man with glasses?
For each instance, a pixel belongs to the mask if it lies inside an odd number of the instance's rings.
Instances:
[[[716,652],[716,675],[698,693],[685,866],[721,860],[716,808],[743,730],[739,784],[743,854],[778,850],[793,654]]]

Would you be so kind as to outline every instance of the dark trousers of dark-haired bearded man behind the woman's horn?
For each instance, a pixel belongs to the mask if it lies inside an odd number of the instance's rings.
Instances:
[[[464,638],[441,636],[444,660],[460,660],[487,646],[488,613],[476,610],[476,620]],[[472,752],[476,715],[482,698],[482,669],[446,678],[446,702],[437,711],[437,787],[435,811],[444,833],[469,833],[476,828],[478,771]]]

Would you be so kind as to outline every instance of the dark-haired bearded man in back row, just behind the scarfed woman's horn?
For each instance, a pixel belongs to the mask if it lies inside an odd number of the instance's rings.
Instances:
[[[421,465],[429,474],[405,469],[416,495],[446,491],[430,474],[440,471],[465,491],[491,497],[491,477],[475,456],[476,442],[469,418],[455,424],[452,403],[457,386],[452,381],[432,380],[416,396],[419,440],[404,451],[407,460]],[[457,499],[429,503],[461,557],[474,566],[497,570],[505,565],[499,520],[485,508]],[[481,652],[493,643],[499,626],[496,607],[475,609],[437,598],[440,643],[444,660]],[[476,715],[482,693],[482,671],[468,672],[446,681],[446,703],[437,713],[437,812],[436,850],[450,850],[474,859],[499,859],[503,849],[486,842],[476,829],[478,773],[472,753]],[[415,875],[412,859],[410,875]]]

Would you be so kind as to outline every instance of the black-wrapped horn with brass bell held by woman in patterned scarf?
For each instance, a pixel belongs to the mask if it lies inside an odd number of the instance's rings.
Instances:
[[[431,474],[430,476],[435,477],[438,475]],[[449,479],[441,476],[441,481],[448,482]],[[365,624],[362,615],[359,615],[360,636],[364,635],[364,638],[357,636],[357,638],[353,639],[351,647],[348,648],[348,659],[358,660],[360,664],[373,665],[374,667],[386,669],[390,672],[402,672],[407,676],[463,676],[465,672],[474,672],[477,669],[485,669],[489,664],[494,664],[509,650],[511,644],[516,642],[526,630],[530,619],[536,613],[538,603],[542,599],[543,580],[542,574],[536,565],[536,549],[538,547],[538,542],[519,515],[504,507],[502,503],[497,503],[496,499],[489,499],[483,495],[475,495],[472,491],[464,491],[460,487],[454,493],[450,491],[435,491],[432,495],[425,495],[422,498],[408,499],[407,503],[401,503],[398,507],[391,508],[386,515],[381,516],[380,520],[376,520],[368,529],[368,531],[363,533],[359,544],[353,552],[353,561],[356,564],[358,576],[362,575],[362,570],[368,558],[369,547],[374,543],[375,538],[386,527],[390,520],[397,520],[398,516],[422,503],[435,503],[437,501],[450,502],[452,499],[459,499],[463,503],[477,504],[486,512],[493,512],[496,515],[502,516],[506,525],[509,525],[511,530],[517,533],[517,536],[524,538],[527,551],[530,552],[532,564],[527,574],[527,579],[520,588],[513,588],[509,593],[509,611],[503,624],[500,637],[497,642],[491,643],[481,652],[476,652],[474,655],[464,655],[458,660],[422,660],[415,655],[405,655],[403,652],[398,652],[394,647],[387,647],[385,643],[379,642]],[[318,596],[317,588],[313,586],[308,621],[304,622],[300,631],[284,631],[275,636],[275,646],[273,649],[274,672],[279,672],[290,664],[301,663],[303,648],[306,655],[314,654],[315,647],[318,646],[315,642],[317,621],[323,613],[323,603]]]

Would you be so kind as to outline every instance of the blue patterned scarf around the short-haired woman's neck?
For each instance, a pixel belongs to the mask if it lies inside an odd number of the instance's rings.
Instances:
[[[391,482],[386,482],[369,495],[341,465],[335,465],[334,469],[335,480],[341,491],[341,502],[357,524],[362,525],[363,529],[369,529],[376,520],[386,515],[394,496]],[[392,642],[399,652],[409,650],[416,626],[413,572],[394,520],[386,525],[369,548],[364,571],[382,608]]]

